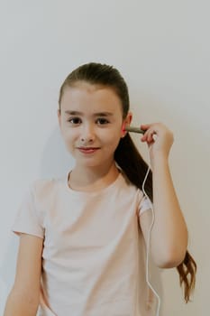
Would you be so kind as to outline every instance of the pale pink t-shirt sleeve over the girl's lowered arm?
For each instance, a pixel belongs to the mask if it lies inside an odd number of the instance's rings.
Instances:
[[[24,233],[41,238],[44,236],[44,229],[41,226],[41,219],[39,218],[33,184],[31,184],[23,196],[21,205],[14,218],[12,231],[16,235]]]

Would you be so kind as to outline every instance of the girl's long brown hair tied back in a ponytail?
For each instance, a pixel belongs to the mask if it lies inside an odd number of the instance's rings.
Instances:
[[[127,116],[130,107],[129,93],[122,75],[113,66],[96,62],[81,65],[76,70],[73,70],[64,80],[59,90],[59,111],[61,111],[60,103],[64,89],[74,86],[78,81],[86,81],[90,84],[112,88],[122,101],[123,118]],[[127,178],[142,190],[142,182],[148,170],[148,164],[143,160],[142,155],[128,133],[121,138],[114,153],[114,160],[122,168]],[[152,201],[151,171],[144,188]],[[189,302],[190,294],[193,292],[196,283],[196,262],[188,251],[183,262],[177,266],[177,270],[180,286],[183,285],[185,301]]]

